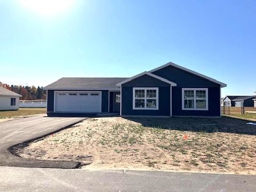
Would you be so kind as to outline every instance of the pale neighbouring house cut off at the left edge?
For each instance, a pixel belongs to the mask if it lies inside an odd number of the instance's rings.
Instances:
[[[0,86],[0,110],[18,110],[20,94]]]

